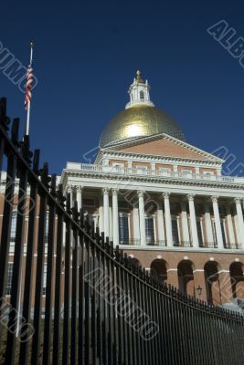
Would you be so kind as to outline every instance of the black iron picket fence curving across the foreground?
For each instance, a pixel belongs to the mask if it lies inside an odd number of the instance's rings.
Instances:
[[[244,318],[158,282],[94,232],[18,124],[1,99],[0,363],[243,364]]]

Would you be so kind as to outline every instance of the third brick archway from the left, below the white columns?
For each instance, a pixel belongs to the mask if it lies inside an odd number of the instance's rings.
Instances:
[[[219,276],[216,261],[208,261],[204,266],[207,302],[218,305],[221,303]]]

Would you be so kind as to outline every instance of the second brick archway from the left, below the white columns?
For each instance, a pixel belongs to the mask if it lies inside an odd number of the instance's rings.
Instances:
[[[179,290],[188,296],[195,296],[194,276],[192,262],[183,260],[178,267]]]

